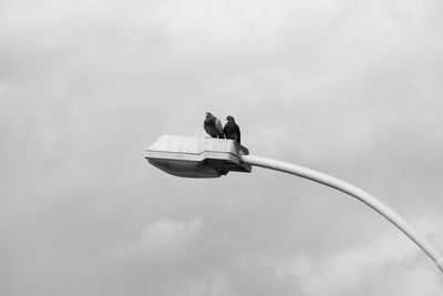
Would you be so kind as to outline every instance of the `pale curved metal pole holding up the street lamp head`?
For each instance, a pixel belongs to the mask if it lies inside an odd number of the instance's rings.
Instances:
[[[442,255],[434,248],[426,239],[421,237],[412,226],[405,222],[399,214],[396,214],[389,206],[370,195],[369,193],[344,182],[339,178],[329,176],[327,174],[306,169],[299,165],[295,165],[287,162],[270,160],[260,156],[254,155],[243,155],[243,161],[266,169],[271,169],[285,173],[289,173],[292,175],[297,175],[300,177],[309,178],[317,183],[327,185],[329,187],[341,191],[346,194],[349,194],[361,202],[365,203],[377,212],[379,212],[383,217],[389,220],[392,224],[394,224],[400,231],[402,231],[409,238],[411,238],[421,249],[426,253],[426,255],[436,264],[440,271],[443,272],[443,257]]]

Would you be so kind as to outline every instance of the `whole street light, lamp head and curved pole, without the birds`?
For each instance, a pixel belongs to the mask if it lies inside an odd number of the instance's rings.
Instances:
[[[251,166],[305,177],[356,197],[372,207],[411,238],[443,272],[443,257],[430,242],[389,206],[339,178],[296,164],[249,155],[233,140],[163,135],[146,150],[145,159],[166,173],[184,177],[219,177],[230,171],[251,172]]]

